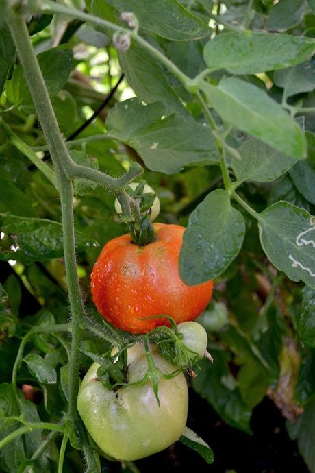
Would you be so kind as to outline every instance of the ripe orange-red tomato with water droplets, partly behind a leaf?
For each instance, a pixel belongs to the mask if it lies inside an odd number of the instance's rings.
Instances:
[[[91,290],[97,310],[117,328],[146,333],[167,319],[139,320],[170,315],[175,322],[194,320],[209,304],[213,281],[186,286],[179,276],[178,259],[185,228],[155,223],[157,241],[137,246],[129,234],[109,241],[95,263]]]

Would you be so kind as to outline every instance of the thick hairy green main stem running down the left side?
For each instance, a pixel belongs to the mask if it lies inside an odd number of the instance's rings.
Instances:
[[[23,16],[12,10],[8,12],[7,23],[16,45],[16,51],[20,58],[23,71],[31,92],[31,97],[38,114],[42,131],[49,145],[49,151],[55,167],[55,176],[60,190],[60,204],[62,210],[62,228],[64,244],[64,261],[66,266],[66,282],[68,286],[68,298],[71,308],[72,319],[72,341],[71,356],[69,359],[69,403],[68,414],[75,422],[77,420],[77,391],[79,389],[79,344],[82,330],[80,324],[84,321],[85,311],[77,277],[77,266],[75,258],[75,234],[73,222],[73,186],[66,177],[64,169],[72,167],[73,161],[68,155],[66,145],[60,130],[53,107],[49,99],[45,81],[38,65],[36,55],[31,45],[27,26]],[[16,378],[15,378],[16,380]],[[88,449],[88,447],[86,448]],[[95,461],[88,455],[88,470],[97,471]],[[89,463],[92,461],[92,463]]]

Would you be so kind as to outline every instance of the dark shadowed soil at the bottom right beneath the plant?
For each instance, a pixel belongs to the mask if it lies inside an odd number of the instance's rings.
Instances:
[[[190,390],[188,426],[212,447],[214,463],[207,465],[177,442],[164,452],[136,461],[136,465],[141,473],[309,473],[285,423],[277,407],[265,398],[253,411],[253,436],[247,435],[224,424],[214,409]]]

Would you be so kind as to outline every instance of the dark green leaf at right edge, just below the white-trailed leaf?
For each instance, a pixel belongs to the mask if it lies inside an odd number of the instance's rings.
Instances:
[[[304,345],[315,347],[315,291],[311,287],[303,288],[301,311],[297,316],[297,332]]]

